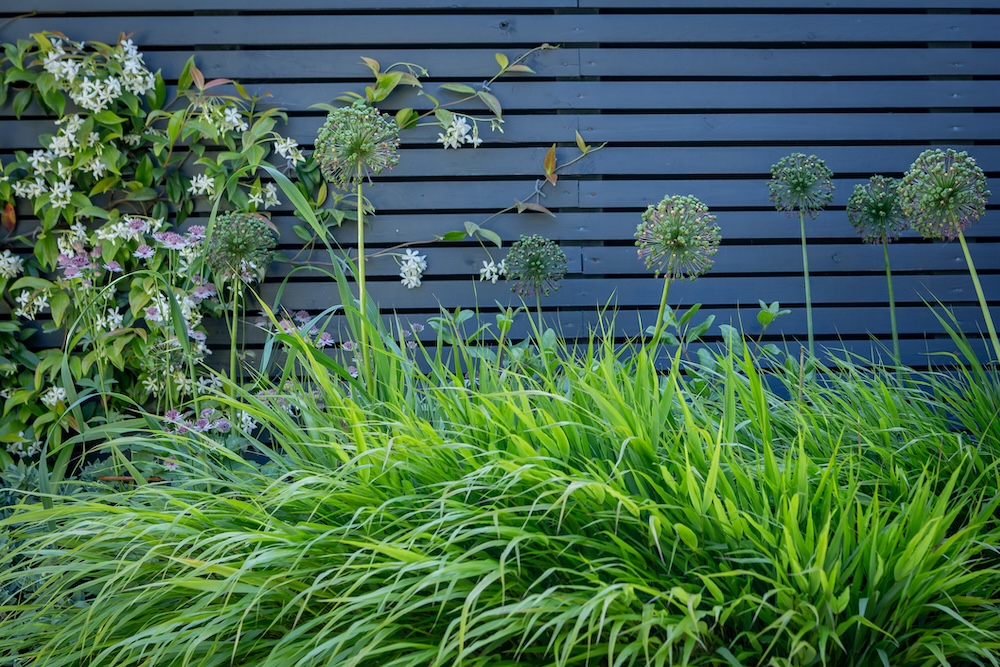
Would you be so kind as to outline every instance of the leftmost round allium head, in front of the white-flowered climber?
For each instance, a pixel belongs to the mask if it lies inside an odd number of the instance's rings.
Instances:
[[[264,216],[223,213],[215,220],[205,261],[219,282],[237,276],[244,283],[252,283],[263,279],[274,246],[274,234]]]

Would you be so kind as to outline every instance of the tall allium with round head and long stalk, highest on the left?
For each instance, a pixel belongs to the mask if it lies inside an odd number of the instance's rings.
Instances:
[[[368,300],[365,286],[365,214],[363,184],[399,163],[399,128],[387,114],[365,105],[363,100],[334,109],[316,137],[316,161],[323,176],[342,190],[356,190],[358,205],[358,309],[360,357],[367,363]]]

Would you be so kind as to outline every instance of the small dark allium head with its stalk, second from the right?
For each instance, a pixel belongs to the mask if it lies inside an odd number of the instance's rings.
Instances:
[[[899,199],[899,181],[885,176],[872,176],[865,185],[854,186],[847,201],[847,219],[865,243],[882,244],[885,257],[885,279],[889,288],[889,323],[892,327],[892,353],[896,365],[902,364],[899,353],[899,329],[896,325],[896,299],[892,289],[892,268],[889,265],[889,243],[899,238],[910,224],[903,216]]]

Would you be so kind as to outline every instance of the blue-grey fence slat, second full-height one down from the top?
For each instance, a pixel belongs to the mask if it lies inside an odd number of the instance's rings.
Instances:
[[[521,51],[504,49],[513,60]],[[497,70],[494,49],[240,49],[198,51],[195,60],[206,76],[254,81],[271,79],[365,78],[361,57],[383,67],[413,62],[431,80],[477,77]],[[191,54],[145,51],[146,64],[163,76],[176,77]],[[419,58],[419,60],[415,60]],[[529,56],[534,74],[516,78],[557,76],[617,77],[865,77],[995,75],[998,49],[879,48],[879,49],[759,49],[702,47],[690,49],[561,48]],[[510,75],[514,76],[514,75]]]

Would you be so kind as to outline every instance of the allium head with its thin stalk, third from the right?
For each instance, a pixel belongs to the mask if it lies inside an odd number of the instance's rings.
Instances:
[[[802,235],[802,276],[806,285],[806,331],[809,354],[815,355],[812,325],[812,293],[809,289],[809,253],[806,250],[806,216],[815,218],[833,202],[833,172],[815,155],[792,153],[771,167],[767,184],[771,203],[789,216],[798,211]]]

